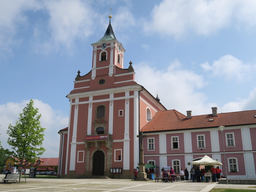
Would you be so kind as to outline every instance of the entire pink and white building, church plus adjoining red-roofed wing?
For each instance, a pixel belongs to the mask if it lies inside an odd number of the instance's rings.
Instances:
[[[143,131],[144,163],[179,173],[207,154],[227,163],[229,178],[256,178],[256,110],[218,114],[212,108],[200,116],[166,110],[158,96],[134,81],[132,63],[124,67],[125,49],[111,23],[92,47],[92,69],[83,76],[78,71],[67,95],[69,125],[58,132],[60,177],[133,178],[140,163],[137,135]]]

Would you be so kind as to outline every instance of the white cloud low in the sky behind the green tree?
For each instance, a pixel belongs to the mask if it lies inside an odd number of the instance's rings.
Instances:
[[[46,128],[43,143],[43,147],[46,151],[42,157],[58,157],[60,142],[58,131],[68,126],[68,117],[61,115],[58,111],[54,111],[48,104],[38,99],[33,100],[34,107],[38,108],[39,113],[42,115],[40,119],[41,126]],[[21,103],[9,102],[5,105],[0,105],[0,140],[3,148],[10,149],[7,144],[7,138],[9,136],[6,134],[6,131],[9,124],[15,125],[16,121],[18,121],[19,113],[23,113],[23,108],[26,107],[27,103],[29,103],[28,100]]]

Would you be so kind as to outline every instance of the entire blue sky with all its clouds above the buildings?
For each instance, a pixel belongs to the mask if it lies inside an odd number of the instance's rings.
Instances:
[[[0,1],[0,141],[30,99],[46,128],[43,157],[58,157],[77,71],[111,24],[135,81],[186,115],[256,109],[256,1]]]

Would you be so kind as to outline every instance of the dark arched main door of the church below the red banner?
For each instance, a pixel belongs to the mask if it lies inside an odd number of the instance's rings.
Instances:
[[[93,175],[104,175],[105,155],[102,151],[96,151],[93,155]]]

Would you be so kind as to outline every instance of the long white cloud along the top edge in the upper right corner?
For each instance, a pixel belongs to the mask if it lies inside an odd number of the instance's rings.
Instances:
[[[236,27],[255,26],[255,12],[256,1],[253,0],[163,0],[154,7],[152,19],[145,22],[144,31],[175,38],[191,31],[210,35],[233,22]]]

